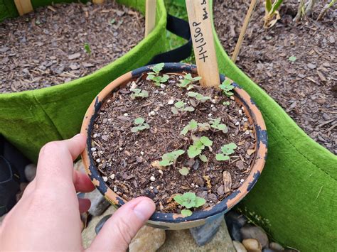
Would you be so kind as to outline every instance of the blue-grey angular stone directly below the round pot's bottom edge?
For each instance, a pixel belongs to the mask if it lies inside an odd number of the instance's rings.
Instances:
[[[190,232],[199,246],[203,246],[210,242],[215,234],[220,229],[221,222],[223,221],[223,214],[211,217],[203,226],[197,226],[190,229]]]

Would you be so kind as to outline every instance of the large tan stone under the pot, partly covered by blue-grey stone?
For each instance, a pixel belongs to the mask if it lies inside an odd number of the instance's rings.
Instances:
[[[222,221],[220,229],[217,234],[213,237],[212,241],[205,244],[205,246],[198,246],[191,236],[188,229],[183,230],[167,230],[166,231],[166,241],[159,252],[171,252],[171,251],[227,251],[235,252],[232,240],[230,239],[230,234],[228,234],[227,226],[225,221]]]

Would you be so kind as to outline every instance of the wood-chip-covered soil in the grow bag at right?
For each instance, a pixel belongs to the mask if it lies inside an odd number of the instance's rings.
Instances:
[[[249,3],[215,0],[215,28],[230,55]],[[337,11],[331,7],[316,21],[325,3],[318,1],[312,16],[295,23],[298,1],[284,1],[281,20],[265,30],[264,5],[258,1],[236,64],[311,138],[337,154]]]

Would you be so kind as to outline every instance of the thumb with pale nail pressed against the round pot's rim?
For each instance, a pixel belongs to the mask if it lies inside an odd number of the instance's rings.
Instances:
[[[127,202],[105,222],[89,251],[126,251],[155,209],[154,202],[146,197]]]

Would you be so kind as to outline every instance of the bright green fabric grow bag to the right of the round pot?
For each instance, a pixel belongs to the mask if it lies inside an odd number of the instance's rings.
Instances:
[[[269,224],[260,224],[284,245],[301,251],[337,251],[336,155],[307,136],[272,97],[232,63],[214,26],[213,34],[220,72],[250,94],[267,125],[267,163],[240,207],[247,207],[252,219],[255,215],[267,219]]]

